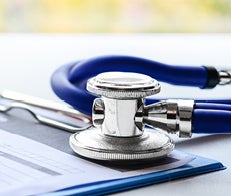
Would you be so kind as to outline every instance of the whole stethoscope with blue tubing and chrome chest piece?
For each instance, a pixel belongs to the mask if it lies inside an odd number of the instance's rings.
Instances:
[[[54,92],[76,110],[92,114],[94,125],[70,137],[72,149],[98,160],[150,160],[165,157],[174,148],[169,135],[159,130],[180,137],[231,133],[231,100],[146,99],[160,91],[157,80],[213,88],[231,83],[231,72],[130,56],[103,56],[61,66],[51,78]]]

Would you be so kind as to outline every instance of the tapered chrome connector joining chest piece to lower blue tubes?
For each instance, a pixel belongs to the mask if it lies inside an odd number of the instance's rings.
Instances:
[[[193,105],[193,100],[166,100],[142,106],[135,122],[188,138],[192,136]]]

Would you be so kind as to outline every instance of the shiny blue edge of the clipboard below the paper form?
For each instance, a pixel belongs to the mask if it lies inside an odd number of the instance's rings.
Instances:
[[[179,168],[130,178],[69,187],[64,190],[43,194],[43,196],[105,195],[223,169],[226,169],[226,167],[216,160],[196,156],[193,161]]]

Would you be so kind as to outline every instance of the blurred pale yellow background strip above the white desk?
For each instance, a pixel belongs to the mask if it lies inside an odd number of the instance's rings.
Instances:
[[[231,0],[0,0],[3,33],[230,33]]]

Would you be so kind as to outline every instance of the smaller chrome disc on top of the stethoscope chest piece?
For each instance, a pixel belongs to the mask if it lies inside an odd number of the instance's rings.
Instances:
[[[160,85],[143,74],[106,72],[89,79],[87,90],[113,99],[136,99],[160,92]]]

